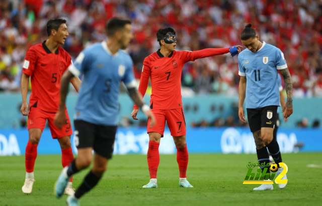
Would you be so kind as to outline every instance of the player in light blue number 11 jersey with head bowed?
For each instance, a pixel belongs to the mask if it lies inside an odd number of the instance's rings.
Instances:
[[[244,101],[250,129],[254,135],[257,157],[260,164],[269,163],[269,152],[276,163],[282,162],[279,145],[273,138],[273,130],[276,124],[277,108],[280,106],[280,93],[278,88],[278,71],[280,70],[285,83],[287,93],[286,104],[282,112],[284,118],[293,113],[293,95],[291,75],[287,69],[283,52],[265,42],[259,41],[256,30],[248,24],[241,32],[241,42],[246,46],[238,55],[239,69],[239,103],[238,116],[240,121],[246,122],[244,113]],[[265,167],[261,169],[264,170]],[[283,171],[280,167],[277,175]],[[269,168],[267,168],[269,175]],[[282,177],[286,179],[286,175]],[[284,188],[286,184],[279,184]],[[272,184],[262,184],[254,190],[272,190]]]

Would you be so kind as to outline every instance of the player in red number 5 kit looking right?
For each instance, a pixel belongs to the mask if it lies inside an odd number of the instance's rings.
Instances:
[[[48,120],[52,138],[58,139],[61,148],[62,166],[68,166],[74,159],[70,135],[72,128],[66,112],[66,123],[60,130],[54,125],[54,117],[59,105],[60,79],[64,71],[71,62],[70,55],[58,45],[63,45],[68,36],[66,20],[53,19],[47,22],[48,39],[41,44],[31,47],[25,57],[23,74],[21,78],[22,107],[21,113],[28,115],[29,141],[26,147],[25,164],[26,179],[22,191],[26,194],[32,192],[34,178],[34,165],[37,157],[37,146],[42,131]],[[31,78],[31,95],[29,98],[29,108],[27,103],[27,93]],[[73,78],[72,85],[78,91],[81,80]],[[65,193],[72,194],[73,188],[69,182]]]

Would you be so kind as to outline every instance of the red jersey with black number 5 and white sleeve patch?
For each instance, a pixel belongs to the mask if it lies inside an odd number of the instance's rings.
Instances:
[[[61,76],[70,64],[71,57],[64,49],[58,47],[51,53],[45,42],[27,51],[22,72],[31,77],[30,107],[58,110]]]

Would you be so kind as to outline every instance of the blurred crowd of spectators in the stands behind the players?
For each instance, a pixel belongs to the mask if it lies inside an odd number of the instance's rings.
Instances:
[[[284,52],[293,96],[322,97],[321,13],[319,0],[0,0],[0,91],[19,92],[25,53],[46,40],[49,19],[67,20],[63,47],[75,58],[106,38],[108,19],[122,17],[133,24],[128,53],[138,80],[144,58],[159,48],[159,28],[176,30],[177,50],[196,51],[241,45],[240,32],[252,23],[260,40]],[[238,82],[237,57],[216,56],[185,65],[182,92],[232,96]]]

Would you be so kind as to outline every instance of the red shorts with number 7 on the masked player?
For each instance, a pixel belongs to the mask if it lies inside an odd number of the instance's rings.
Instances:
[[[186,135],[186,120],[185,114],[182,108],[169,109],[169,110],[151,110],[155,116],[156,124],[153,127],[149,127],[150,119],[147,120],[147,133],[157,132],[163,137],[163,133],[166,127],[166,120],[172,136]]]

